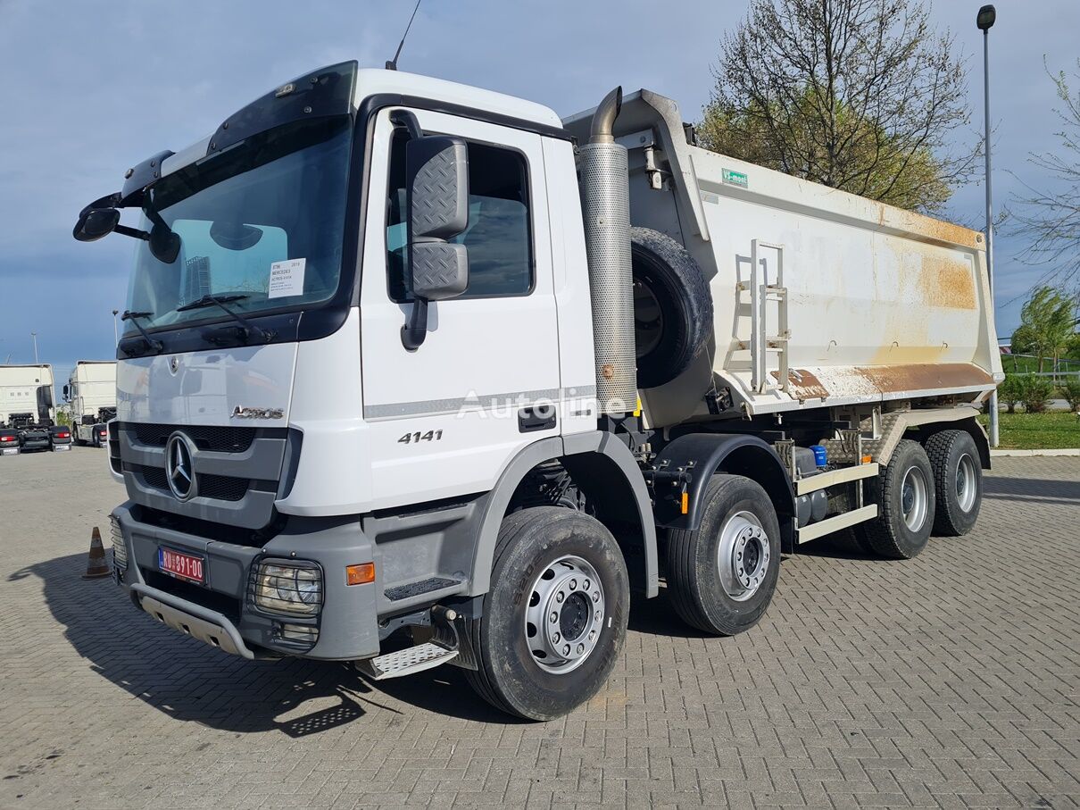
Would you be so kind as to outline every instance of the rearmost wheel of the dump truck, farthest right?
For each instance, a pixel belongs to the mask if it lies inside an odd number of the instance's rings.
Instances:
[[[937,498],[934,535],[967,535],[983,504],[983,464],[975,440],[966,430],[943,430],[927,440],[926,449]]]

